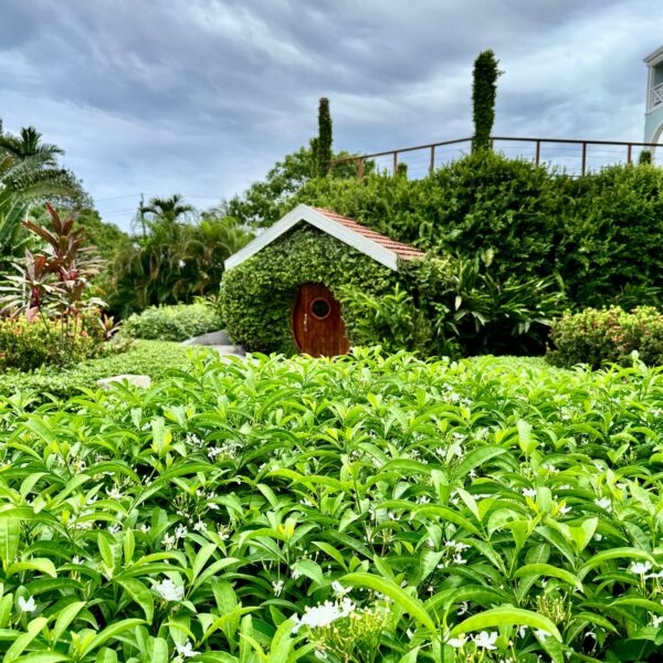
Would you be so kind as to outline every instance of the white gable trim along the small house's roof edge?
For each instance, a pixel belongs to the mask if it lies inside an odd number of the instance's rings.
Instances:
[[[232,267],[242,264],[245,260],[255,255],[259,251],[262,251],[267,244],[271,244],[301,221],[311,223],[311,225],[314,225],[345,244],[352,246],[352,249],[357,249],[357,251],[372,257],[376,262],[379,262],[386,267],[393,271],[398,270],[398,255],[393,251],[365,238],[362,234],[355,232],[341,223],[337,223],[333,219],[329,219],[329,217],[314,210],[307,204],[298,204],[294,210],[283,217],[283,219],[276,221],[274,225],[267,228],[265,232],[246,244],[241,251],[233,253],[225,261],[225,269],[231,270]]]

